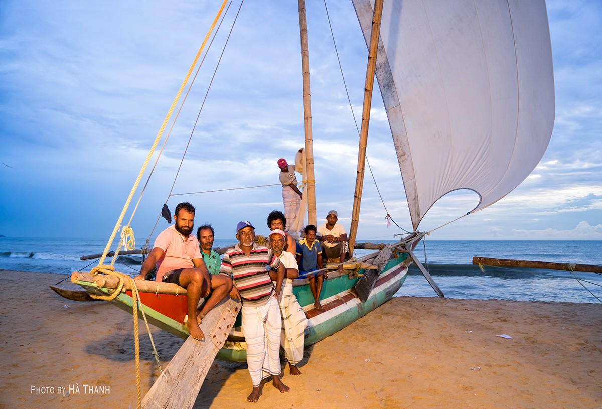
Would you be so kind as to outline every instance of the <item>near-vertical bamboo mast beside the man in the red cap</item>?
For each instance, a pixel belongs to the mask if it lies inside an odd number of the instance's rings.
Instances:
[[[301,34],[301,70],[303,73],[303,128],[305,130],[305,180],[307,195],[308,223],[315,226],[315,180],[314,180],[314,146],[311,134],[311,93],[309,92],[309,51],[307,41],[307,22],[305,19],[305,0],[299,0],[299,29]]]

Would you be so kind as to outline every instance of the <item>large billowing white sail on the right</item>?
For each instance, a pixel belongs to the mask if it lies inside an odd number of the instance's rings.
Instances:
[[[368,42],[373,1],[353,4]],[[544,0],[385,0],[376,77],[414,229],[453,190],[503,198],[550,141]]]

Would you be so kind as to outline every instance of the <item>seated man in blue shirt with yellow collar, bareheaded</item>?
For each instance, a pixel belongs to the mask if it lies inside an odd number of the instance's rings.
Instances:
[[[314,296],[314,307],[322,309],[320,304],[320,293],[322,292],[322,282],[328,278],[325,271],[314,272],[317,269],[323,269],[322,248],[320,243],[315,240],[315,226],[307,225],[303,229],[305,238],[299,241],[297,246],[297,264],[299,264],[299,278],[307,278],[309,289]]]

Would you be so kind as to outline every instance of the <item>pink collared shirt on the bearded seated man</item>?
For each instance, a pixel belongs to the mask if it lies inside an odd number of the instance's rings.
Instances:
[[[161,281],[163,275],[168,271],[192,268],[194,267],[193,260],[203,259],[196,236],[190,234],[190,236],[184,237],[176,231],[175,226],[169,226],[163,230],[157,236],[154,247],[165,252],[163,257],[157,261],[155,281]]]

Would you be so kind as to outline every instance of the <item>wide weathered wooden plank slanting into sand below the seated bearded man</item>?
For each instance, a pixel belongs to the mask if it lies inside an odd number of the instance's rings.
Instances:
[[[204,341],[188,337],[173,356],[164,373],[142,399],[144,409],[191,408],[209,367],[216,358],[240,311],[240,301],[226,296],[203,318]]]

